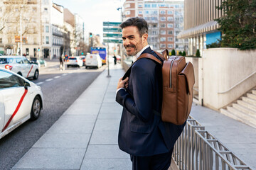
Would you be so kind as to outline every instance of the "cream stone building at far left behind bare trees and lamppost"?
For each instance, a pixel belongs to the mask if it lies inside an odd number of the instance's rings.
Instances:
[[[37,0],[0,1],[1,54],[40,56],[40,6],[40,1]]]

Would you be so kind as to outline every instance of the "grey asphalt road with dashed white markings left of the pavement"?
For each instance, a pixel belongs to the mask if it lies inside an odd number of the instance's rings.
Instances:
[[[70,67],[60,71],[58,62],[49,62],[48,67],[41,68],[38,80],[31,80],[43,91],[41,115],[0,140],[0,169],[11,169],[105,68]]]

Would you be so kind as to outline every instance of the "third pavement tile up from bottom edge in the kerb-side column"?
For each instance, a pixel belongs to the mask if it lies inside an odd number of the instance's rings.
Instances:
[[[75,116],[75,115],[74,115]],[[95,123],[63,123],[57,121],[47,132],[53,133],[91,133]]]

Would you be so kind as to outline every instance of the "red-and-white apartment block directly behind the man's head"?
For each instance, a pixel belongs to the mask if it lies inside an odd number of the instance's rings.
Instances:
[[[149,23],[149,45],[154,50],[188,50],[188,40],[178,39],[183,30],[183,0],[127,0],[124,18],[139,16]]]

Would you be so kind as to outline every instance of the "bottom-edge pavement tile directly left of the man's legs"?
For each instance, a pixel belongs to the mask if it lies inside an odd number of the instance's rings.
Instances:
[[[130,159],[85,159],[81,170],[131,170]]]

